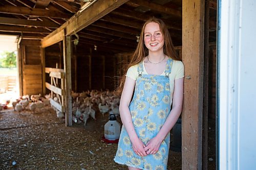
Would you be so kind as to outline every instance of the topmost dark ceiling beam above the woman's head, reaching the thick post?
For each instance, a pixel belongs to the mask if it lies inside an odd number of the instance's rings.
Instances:
[[[176,17],[181,18],[182,17],[182,12],[176,9],[172,9],[172,8],[167,8],[163,5],[159,5],[156,3],[152,3],[148,0],[131,0],[129,2],[126,3],[127,5],[131,5],[131,6],[143,6],[143,7],[148,7],[153,11],[158,11],[160,13],[166,13],[169,15],[173,15]]]

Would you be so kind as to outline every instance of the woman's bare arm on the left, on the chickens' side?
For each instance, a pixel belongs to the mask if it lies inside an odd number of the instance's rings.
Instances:
[[[146,156],[147,154],[144,151],[145,145],[139,139],[137,133],[135,132],[131,112],[129,110],[129,104],[132,99],[134,87],[135,87],[135,80],[129,77],[126,77],[122,95],[121,95],[120,105],[119,105],[120,117],[121,117],[123,126],[131,139],[134,152],[139,156]]]

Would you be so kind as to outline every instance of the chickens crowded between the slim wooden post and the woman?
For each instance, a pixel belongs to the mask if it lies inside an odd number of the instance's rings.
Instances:
[[[95,113],[97,109],[102,115],[105,113],[119,115],[120,98],[109,90],[88,90],[81,93],[72,91],[71,95],[72,114],[75,123],[84,122],[84,125],[86,125],[89,117],[96,120]]]

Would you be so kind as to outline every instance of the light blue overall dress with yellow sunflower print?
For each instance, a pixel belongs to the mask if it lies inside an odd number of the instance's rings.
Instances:
[[[169,74],[173,60],[168,59],[165,76],[142,75],[143,62],[138,66],[139,77],[136,80],[133,100],[129,105],[133,125],[138,137],[146,144],[155,137],[170,112]],[[169,152],[169,133],[162,141],[159,151],[144,157],[133,151],[130,137],[122,126],[115,162],[140,169],[167,169]]]

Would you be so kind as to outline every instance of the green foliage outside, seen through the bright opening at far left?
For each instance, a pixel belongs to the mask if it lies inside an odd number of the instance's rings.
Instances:
[[[4,52],[1,56],[4,56],[4,58],[0,58],[0,67],[16,67],[16,54],[14,52]]]

